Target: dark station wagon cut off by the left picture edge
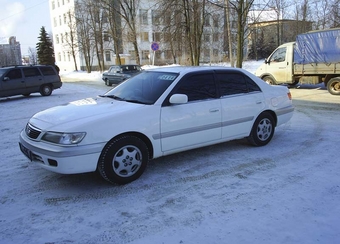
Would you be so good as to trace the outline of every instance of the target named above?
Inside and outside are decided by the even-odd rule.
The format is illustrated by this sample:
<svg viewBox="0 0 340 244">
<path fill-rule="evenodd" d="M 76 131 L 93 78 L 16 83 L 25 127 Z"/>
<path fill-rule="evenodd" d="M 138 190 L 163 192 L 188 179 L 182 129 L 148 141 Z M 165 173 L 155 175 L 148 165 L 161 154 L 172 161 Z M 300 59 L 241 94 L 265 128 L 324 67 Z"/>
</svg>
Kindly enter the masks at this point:
<svg viewBox="0 0 340 244">
<path fill-rule="evenodd" d="M 0 97 L 29 96 L 35 92 L 49 96 L 61 86 L 60 76 L 51 65 L 0 68 Z"/>
</svg>

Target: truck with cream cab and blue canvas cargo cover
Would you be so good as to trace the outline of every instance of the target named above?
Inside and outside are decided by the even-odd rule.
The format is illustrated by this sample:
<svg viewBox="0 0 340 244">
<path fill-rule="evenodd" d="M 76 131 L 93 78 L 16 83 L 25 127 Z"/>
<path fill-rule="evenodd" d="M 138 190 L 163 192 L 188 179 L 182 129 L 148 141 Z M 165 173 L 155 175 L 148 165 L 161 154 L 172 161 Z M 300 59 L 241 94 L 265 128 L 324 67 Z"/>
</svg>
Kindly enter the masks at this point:
<svg viewBox="0 0 340 244">
<path fill-rule="evenodd" d="M 276 48 L 255 74 L 272 85 L 323 82 L 340 95 L 340 28 L 298 35 Z"/>
</svg>

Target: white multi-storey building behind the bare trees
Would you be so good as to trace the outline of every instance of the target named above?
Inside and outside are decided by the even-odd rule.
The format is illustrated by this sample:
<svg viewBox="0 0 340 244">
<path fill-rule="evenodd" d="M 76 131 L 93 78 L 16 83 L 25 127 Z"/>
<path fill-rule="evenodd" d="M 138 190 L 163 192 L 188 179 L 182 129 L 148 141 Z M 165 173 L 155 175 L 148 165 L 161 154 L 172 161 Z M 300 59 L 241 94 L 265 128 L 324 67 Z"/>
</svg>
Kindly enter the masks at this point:
<svg viewBox="0 0 340 244">
<path fill-rule="evenodd" d="M 77 15 L 81 11 L 79 6 L 76 6 L 75 0 L 49 0 L 50 1 L 50 16 L 52 23 L 53 44 L 56 57 L 56 63 L 61 71 L 85 70 L 86 55 L 81 51 L 79 46 L 73 45 L 76 50 L 72 52 L 71 45 L 68 41 L 70 38 L 70 18 Z M 95 2 L 95 1 L 94 1 Z M 140 8 L 136 11 L 137 16 L 137 42 L 138 55 L 136 55 L 132 42 L 126 38 L 129 35 L 127 23 L 121 21 L 121 36 L 119 56 L 123 64 L 136 64 L 136 57 L 139 56 L 142 65 L 147 64 L 189 64 L 187 50 L 185 50 L 185 42 L 182 39 L 182 50 L 174 53 L 169 38 L 171 35 L 164 33 L 165 19 L 169 16 L 160 16 L 155 4 L 155 1 L 141 0 Z M 218 62 L 224 58 L 224 14 L 222 8 L 210 6 L 209 14 L 204 23 L 203 45 L 201 51 L 202 62 Z M 71 13 L 71 14 L 70 14 Z M 79 14 L 79 13 L 78 13 Z M 114 43 L 110 37 L 108 24 L 105 21 L 102 27 L 105 68 L 114 65 L 117 62 L 117 57 L 114 52 Z M 75 21 L 73 20 L 73 23 Z M 78 24 L 77 24 L 78 25 Z M 79 26 L 76 29 L 80 28 Z M 78 29 L 79 30 L 79 29 Z M 81 41 L 81 37 L 75 35 L 76 42 Z M 156 48 L 155 48 L 156 47 Z M 94 54 L 94 49 L 91 50 L 91 67 L 96 70 L 99 59 Z M 74 55 L 72 55 L 74 54 Z M 90 55 L 88 53 L 87 55 Z M 75 58 L 73 57 L 75 56 Z M 88 60 L 87 60 L 88 61 Z M 76 64 L 76 65 L 75 65 Z"/>
</svg>

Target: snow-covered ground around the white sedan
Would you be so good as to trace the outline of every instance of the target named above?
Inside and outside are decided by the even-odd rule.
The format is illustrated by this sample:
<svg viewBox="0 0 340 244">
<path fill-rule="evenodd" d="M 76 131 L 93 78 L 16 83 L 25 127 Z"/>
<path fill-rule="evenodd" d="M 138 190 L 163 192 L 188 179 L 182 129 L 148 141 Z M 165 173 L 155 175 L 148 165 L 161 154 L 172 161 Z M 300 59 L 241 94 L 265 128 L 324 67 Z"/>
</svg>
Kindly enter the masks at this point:
<svg viewBox="0 0 340 244">
<path fill-rule="evenodd" d="M 340 97 L 324 87 L 291 89 L 295 114 L 265 147 L 171 155 L 114 186 L 43 170 L 19 151 L 33 114 L 108 90 L 98 73 L 62 77 L 49 97 L 0 99 L 0 243 L 340 243 Z"/>
</svg>

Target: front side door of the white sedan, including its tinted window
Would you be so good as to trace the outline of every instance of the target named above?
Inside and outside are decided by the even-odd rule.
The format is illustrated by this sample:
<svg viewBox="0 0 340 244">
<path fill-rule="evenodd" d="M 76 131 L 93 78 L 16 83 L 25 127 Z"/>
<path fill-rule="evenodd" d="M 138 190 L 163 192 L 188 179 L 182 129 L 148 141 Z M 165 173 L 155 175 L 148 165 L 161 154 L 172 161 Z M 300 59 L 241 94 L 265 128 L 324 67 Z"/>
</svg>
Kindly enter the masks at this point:
<svg viewBox="0 0 340 244">
<path fill-rule="evenodd" d="M 221 138 L 221 103 L 213 72 L 183 77 L 171 94 L 186 94 L 188 103 L 161 108 L 162 150 L 178 151 Z"/>
</svg>

